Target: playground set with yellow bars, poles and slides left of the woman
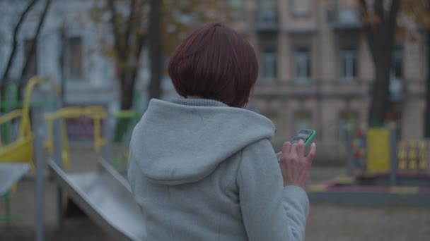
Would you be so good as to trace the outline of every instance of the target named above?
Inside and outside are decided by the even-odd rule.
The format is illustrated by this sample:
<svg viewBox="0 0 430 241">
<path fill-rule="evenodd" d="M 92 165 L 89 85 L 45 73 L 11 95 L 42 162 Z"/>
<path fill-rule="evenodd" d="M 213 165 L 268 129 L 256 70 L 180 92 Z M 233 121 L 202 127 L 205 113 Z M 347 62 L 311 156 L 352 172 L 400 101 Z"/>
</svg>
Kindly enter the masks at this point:
<svg viewBox="0 0 430 241">
<path fill-rule="evenodd" d="M 0 197 L 6 199 L 7 214 L 4 220 L 10 223 L 13 218 L 16 218 L 11 216 L 9 211 L 9 190 L 27 173 L 34 161 L 36 184 L 35 238 L 37 241 L 45 240 L 44 185 L 46 163 L 43 153 L 45 147 L 49 154 L 54 155 L 52 159 L 54 161 L 50 161 L 49 167 L 54 180 L 59 184 L 57 204 L 60 226 L 62 226 L 64 220 L 62 216 L 62 191 L 64 189 L 69 197 L 95 223 L 104 228 L 107 233 L 110 233 L 115 240 L 142 240 L 145 237 L 146 230 L 144 230 L 141 210 L 134 202 L 127 181 L 110 166 L 112 164 L 112 161 L 110 161 L 112 148 L 110 148 L 110 138 L 107 137 L 107 134 L 111 130 L 108 130 L 108 115 L 105 109 L 101 106 L 59 109 L 59 106 L 57 106 L 58 110 L 56 112 L 42 115 L 44 112 L 43 107 L 46 103 L 34 104 L 34 102 L 30 102 L 30 99 L 35 85 L 45 82 L 50 82 L 50 80 L 38 77 L 31 78 L 25 87 L 25 100 L 22 103 L 9 101 L 10 103 L 6 107 L 5 103 L 1 103 L 6 109 L 23 107 L 0 116 Z M 54 86 L 54 89 L 58 92 L 56 86 Z M 30 107 L 32 108 L 31 120 Z M 64 118 L 79 118 L 81 116 L 90 118 L 93 121 L 94 151 L 98 154 L 104 154 L 105 159 L 108 161 L 100 157 L 98 168 L 95 171 L 66 173 L 63 166 L 69 166 L 71 158 Z M 112 116 L 115 116 L 115 118 L 134 119 L 135 114 L 123 111 Z M 19 118 L 21 120 L 15 121 Z M 47 131 L 44 130 L 42 119 L 47 122 Z M 13 138 L 10 138 L 11 133 L 9 131 L 11 130 L 9 126 L 11 121 L 19 123 L 20 126 L 16 140 L 13 141 L 11 141 Z M 32 122 L 31 124 L 30 121 Z M 32 130 L 32 126 L 34 130 Z M 47 134 L 47 140 L 44 140 L 45 134 Z M 128 150 L 128 147 L 124 144 L 124 150 L 126 148 Z M 125 154 L 124 158 L 127 158 Z"/>
</svg>

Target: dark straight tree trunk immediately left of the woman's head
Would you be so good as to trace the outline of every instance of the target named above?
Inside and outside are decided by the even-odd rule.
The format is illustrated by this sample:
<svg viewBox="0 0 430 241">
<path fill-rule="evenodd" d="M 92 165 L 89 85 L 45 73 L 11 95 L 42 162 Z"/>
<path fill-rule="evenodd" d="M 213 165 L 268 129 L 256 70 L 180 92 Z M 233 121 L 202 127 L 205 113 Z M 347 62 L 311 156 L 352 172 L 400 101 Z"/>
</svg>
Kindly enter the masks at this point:
<svg viewBox="0 0 430 241">
<path fill-rule="evenodd" d="M 162 51 L 161 51 L 161 0 L 151 0 L 149 13 L 149 62 L 151 81 L 149 100 L 161 97 Z"/>
</svg>

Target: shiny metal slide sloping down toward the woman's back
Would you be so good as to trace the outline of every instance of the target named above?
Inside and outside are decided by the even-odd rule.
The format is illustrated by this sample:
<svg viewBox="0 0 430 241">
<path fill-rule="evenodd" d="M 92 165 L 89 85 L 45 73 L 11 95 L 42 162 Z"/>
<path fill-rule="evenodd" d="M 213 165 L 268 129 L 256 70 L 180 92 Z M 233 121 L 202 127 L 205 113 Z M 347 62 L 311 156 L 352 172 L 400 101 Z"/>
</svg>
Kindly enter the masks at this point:
<svg viewBox="0 0 430 241">
<path fill-rule="evenodd" d="M 54 180 L 113 240 L 144 240 L 144 218 L 129 184 L 105 160 L 87 173 L 65 173 L 54 161 L 49 166 Z"/>
</svg>

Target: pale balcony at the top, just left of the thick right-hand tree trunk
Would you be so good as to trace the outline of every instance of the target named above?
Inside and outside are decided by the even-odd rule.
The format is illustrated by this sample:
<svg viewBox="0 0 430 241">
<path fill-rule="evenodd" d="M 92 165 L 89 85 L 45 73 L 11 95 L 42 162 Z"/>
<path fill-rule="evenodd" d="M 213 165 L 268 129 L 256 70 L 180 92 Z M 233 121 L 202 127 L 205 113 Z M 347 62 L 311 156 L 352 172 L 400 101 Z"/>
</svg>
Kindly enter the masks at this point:
<svg viewBox="0 0 430 241">
<path fill-rule="evenodd" d="M 356 30 L 363 26 L 358 8 L 341 6 L 340 1 L 327 9 L 327 22 L 335 30 Z"/>
</svg>

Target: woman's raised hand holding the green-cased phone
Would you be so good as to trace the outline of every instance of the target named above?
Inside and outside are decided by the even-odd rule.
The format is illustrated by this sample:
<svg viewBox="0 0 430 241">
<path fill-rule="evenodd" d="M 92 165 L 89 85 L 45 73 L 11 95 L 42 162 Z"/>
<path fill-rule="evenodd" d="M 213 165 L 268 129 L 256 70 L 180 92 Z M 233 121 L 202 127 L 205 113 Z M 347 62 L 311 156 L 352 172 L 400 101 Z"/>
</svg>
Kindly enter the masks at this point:
<svg viewBox="0 0 430 241">
<path fill-rule="evenodd" d="M 308 156 L 305 156 L 303 140 L 300 140 L 298 144 L 284 143 L 282 152 L 277 153 L 277 156 L 280 156 L 279 168 L 284 179 L 284 186 L 295 185 L 305 188 L 316 149 L 315 143 L 312 143 Z"/>
</svg>

